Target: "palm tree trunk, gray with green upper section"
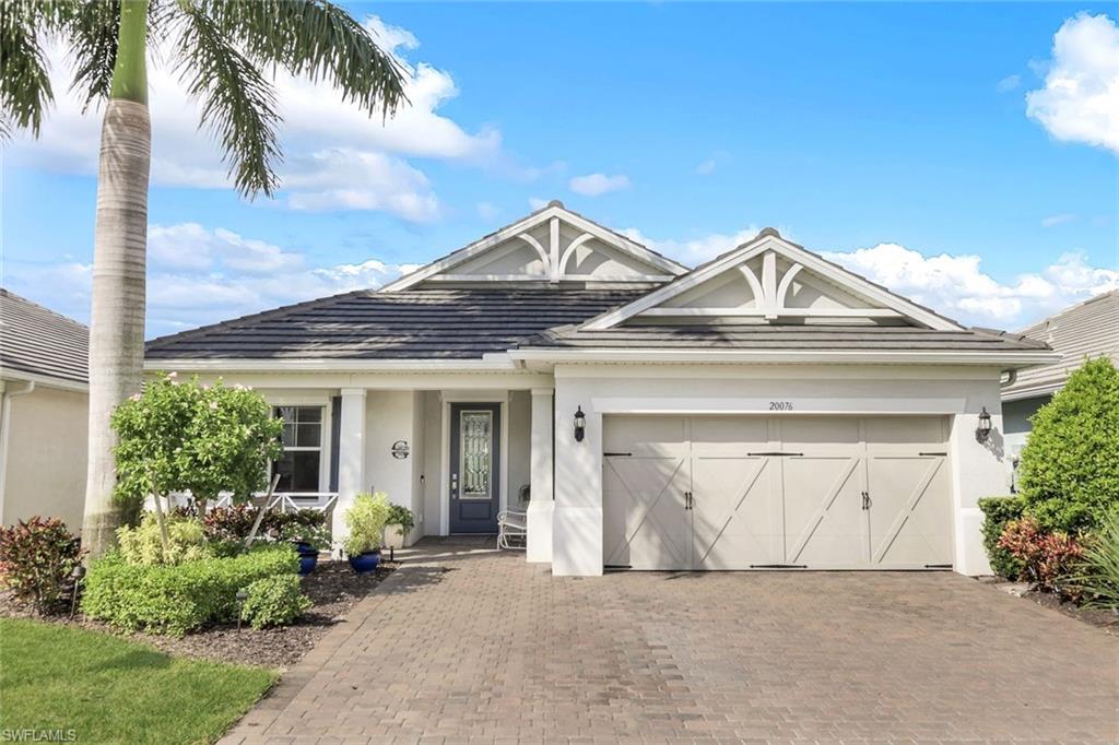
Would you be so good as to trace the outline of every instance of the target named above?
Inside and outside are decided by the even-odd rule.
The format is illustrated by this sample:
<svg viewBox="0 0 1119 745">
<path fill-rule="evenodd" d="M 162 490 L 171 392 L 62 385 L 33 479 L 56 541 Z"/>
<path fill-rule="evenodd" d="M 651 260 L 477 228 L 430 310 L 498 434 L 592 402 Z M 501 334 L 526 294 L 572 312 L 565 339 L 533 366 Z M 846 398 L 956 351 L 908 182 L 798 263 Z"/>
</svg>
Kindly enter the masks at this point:
<svg viewBox="0 0 1119 745">
<path fill-rule="evenodd" d="M 121 7 L 113 89 L 101 131 L 97 227 L 90 313 L 90 455 L 82 540 L 95 558 L 113 546 L 116 437 L 110 416 L 143 375 L 151 122 L 145 70 L 147 0 Z"/>
</svg>

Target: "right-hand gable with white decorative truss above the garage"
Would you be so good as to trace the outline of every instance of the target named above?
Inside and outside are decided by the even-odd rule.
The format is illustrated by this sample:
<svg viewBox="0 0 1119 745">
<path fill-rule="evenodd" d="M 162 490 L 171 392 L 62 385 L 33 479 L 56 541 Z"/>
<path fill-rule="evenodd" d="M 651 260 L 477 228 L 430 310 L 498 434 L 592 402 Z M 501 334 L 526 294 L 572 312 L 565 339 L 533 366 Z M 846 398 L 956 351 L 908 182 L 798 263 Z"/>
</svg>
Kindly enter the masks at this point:
<svg viewBox="0 0 1119 745">
<path fill-rule="evenodd" d="M 866 323 L 959 329 L 767 228 L 753 241 L 582 328 L 620 324 Z"/>
</svg>

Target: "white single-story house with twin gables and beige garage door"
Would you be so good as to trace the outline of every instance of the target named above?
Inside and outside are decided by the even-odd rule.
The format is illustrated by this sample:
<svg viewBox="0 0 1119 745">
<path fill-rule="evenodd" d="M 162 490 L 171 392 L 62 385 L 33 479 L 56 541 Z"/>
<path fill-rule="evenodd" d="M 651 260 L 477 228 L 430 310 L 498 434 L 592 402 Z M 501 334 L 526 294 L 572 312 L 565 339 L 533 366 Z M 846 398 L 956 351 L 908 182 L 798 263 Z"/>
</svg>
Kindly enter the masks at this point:
<svg viewBox="0 0 1119 745">
<path fill-rule="evenodd" d="M 156 339 L 149 370 L 251 385 L 281 490 L 385 490 L 416 535 L 642 569 L 988 572 L 999 383 L 1054 359 L 767 228 L 688 268 L 558 201 L 378 290 Z M 989 432 L 988 432 L 989 428 Z"/>
</svg>

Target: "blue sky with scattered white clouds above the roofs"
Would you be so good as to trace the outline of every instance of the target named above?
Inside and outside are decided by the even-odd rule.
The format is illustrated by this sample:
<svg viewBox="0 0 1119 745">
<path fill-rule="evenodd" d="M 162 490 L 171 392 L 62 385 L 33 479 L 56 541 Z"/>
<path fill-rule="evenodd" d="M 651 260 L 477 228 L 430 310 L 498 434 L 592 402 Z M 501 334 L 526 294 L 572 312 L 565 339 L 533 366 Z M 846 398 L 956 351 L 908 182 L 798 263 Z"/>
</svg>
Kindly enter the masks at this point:
<svg viewBox="0 0 1119 745">
<path fill-rule="evenodd" d="M 278 81 L 274 201 L 225 186 L 153 70 L 150 337 L 375 286 L 553 198 L 689 264 L 772 225 L 982 326 L 1119 286 L 1115 6 L 351 8 L 413 106 L 382 126 Z M 2 282 L 83 321 L 98 129 L 63 98 L 3 153 Z"/>
</svg>

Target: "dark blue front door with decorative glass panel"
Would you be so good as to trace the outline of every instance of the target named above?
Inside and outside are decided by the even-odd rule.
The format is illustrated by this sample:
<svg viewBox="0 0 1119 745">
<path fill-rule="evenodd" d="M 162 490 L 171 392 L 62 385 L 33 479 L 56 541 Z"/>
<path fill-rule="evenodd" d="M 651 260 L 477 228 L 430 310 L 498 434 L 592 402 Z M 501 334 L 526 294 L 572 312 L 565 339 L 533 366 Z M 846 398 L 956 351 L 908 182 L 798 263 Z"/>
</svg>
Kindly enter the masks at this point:
<svg viewBox="0 0 1119 745">
<path fill-rule="evenodd" d="M 496 534 L 501 404 L 451 404 L 451 532 Z"/>
</svg>

